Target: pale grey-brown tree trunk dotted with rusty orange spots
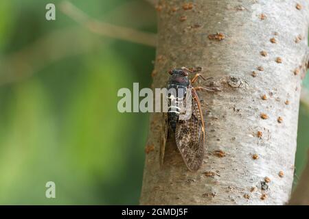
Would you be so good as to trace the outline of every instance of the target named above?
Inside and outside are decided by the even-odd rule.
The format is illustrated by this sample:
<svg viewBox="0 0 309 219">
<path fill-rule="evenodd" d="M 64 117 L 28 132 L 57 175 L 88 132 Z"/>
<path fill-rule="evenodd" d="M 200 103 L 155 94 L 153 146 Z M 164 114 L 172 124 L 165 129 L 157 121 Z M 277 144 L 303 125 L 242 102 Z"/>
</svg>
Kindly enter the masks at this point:
<svg viewBox="0 0 309 219">
<path fill-rule="evenodd" d="M 186 66 L 202 68 L 200 86 L 221 91 L 199 92 L 206 153 L 196 172 L 172 139 L 160 166 L 161 114 L 152 114 L 141 205 L 287 203 L 308 63 L 308 1 L 183 3 L 157 5 L 153 87 L 165 87 L 168 70 Z"/>
</svg>

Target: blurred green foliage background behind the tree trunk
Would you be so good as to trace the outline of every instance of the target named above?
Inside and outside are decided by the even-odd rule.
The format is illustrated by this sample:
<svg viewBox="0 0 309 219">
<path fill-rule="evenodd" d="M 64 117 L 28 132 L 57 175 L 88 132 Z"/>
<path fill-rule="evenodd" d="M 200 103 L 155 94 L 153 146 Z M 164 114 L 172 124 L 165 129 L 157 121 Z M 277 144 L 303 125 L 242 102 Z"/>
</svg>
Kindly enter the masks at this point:
<svg viewBox="0 0 309 219">
<path fill-rule="evenodd" d="M 45 19 L 51 2 L 56 21 Z M 89 31 L 61 2 L 0 1 L 0 204 L 138 204 L 149 115 L 117 112 L 117 90 L 150 87 L 155 48 Z M 142 0 L 71 3 L 98 21 L 156 32 Z M 308 130 L 301 105 L 297 175 Z M 45 198 L 47 181 L 56 198 Z"/>
</svg>

